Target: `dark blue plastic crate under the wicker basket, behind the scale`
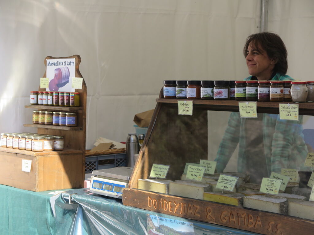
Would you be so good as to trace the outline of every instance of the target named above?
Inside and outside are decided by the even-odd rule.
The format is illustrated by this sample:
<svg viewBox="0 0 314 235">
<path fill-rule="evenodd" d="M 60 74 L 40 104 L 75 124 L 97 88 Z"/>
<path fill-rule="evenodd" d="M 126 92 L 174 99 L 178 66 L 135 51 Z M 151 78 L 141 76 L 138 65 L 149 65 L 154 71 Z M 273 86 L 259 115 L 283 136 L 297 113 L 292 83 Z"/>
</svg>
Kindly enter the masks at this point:
<svg viewBox="0 0 314 235">
<path fill-rule="evenodd" d="M 85 157 L 85 174 L 93 170 L 127 166 L 127 154 L 107 154 Z"/>
</svg>

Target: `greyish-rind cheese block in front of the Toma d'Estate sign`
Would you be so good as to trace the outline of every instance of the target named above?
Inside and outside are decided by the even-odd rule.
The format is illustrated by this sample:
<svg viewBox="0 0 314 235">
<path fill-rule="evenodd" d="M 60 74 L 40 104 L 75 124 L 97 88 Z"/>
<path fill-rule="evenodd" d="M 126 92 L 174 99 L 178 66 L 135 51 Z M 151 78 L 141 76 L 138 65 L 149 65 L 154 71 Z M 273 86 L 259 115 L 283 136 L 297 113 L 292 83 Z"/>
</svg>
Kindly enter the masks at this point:
<svg viewBox="0 0 314 235">
<path fill-rule="evenodd" d="M 169 194 L 202 199 L 204 192 L 208 192 L 210 186 L 204 183 L 174 181 L 169 184 Z"/>
</svg>

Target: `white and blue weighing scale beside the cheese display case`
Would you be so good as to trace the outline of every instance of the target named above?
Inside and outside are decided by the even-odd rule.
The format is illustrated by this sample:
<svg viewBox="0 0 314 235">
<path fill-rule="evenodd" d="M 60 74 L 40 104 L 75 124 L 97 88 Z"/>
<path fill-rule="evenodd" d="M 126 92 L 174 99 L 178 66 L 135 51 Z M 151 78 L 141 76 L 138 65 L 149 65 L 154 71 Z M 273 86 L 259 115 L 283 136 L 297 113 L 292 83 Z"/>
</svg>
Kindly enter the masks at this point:
<svg viewBox="0 0 314 235">
<path fill-rule="evenodd" d="M 93 170 L 95 176 L 90 179 L 89 191 L 122 199 L 122 189 L 127 188 L 132 171 L 132 167 L 126 166 Z"/>
</svg>

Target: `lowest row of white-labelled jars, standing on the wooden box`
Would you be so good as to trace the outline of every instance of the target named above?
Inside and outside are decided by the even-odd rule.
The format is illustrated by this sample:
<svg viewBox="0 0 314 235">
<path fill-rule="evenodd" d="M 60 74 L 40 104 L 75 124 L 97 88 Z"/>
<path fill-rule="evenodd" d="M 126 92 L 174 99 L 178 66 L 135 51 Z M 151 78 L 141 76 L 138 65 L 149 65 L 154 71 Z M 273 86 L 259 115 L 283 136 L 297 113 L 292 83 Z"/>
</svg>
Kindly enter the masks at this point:
<svg viewBox="0 0 314 235">
<path fill-rule="evenodd" d="M 63 136 L 34 133 L 1 133 L 1 147 L 34 152 L 63 150 Z"/>
</svg>

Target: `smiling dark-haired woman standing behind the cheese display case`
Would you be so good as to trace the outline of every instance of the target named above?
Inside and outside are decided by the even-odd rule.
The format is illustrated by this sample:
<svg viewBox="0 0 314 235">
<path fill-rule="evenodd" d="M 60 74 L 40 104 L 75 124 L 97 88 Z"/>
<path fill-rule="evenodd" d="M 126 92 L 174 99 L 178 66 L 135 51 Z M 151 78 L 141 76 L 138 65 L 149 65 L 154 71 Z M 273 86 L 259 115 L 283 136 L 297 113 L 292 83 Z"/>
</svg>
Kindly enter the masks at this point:
<svg viewBox="0 0 314 235">
<path fill-rule="evenodd" d="M 293 80 L 286 75 L 287 50 L 277 34 L 257 33 L 246 39 L 246 65 L 251 76 L 245 80 Z M 237 171 L 260 183 L 281 168 L 302 167 L 307 147 L 299 121 L 280 120 L 278 114 L 258 113 L 257 118 L 240 118 L 232 112 L 217 152 L 216 169 L 222 172 L 239 143 Z M 236 169 L 234 169 L 236 171 Z"/>
</svg>

